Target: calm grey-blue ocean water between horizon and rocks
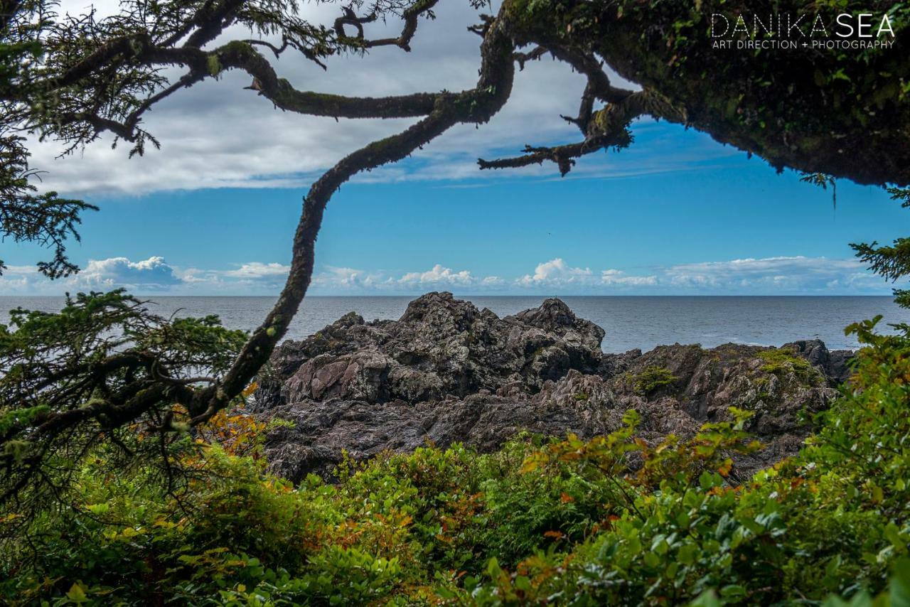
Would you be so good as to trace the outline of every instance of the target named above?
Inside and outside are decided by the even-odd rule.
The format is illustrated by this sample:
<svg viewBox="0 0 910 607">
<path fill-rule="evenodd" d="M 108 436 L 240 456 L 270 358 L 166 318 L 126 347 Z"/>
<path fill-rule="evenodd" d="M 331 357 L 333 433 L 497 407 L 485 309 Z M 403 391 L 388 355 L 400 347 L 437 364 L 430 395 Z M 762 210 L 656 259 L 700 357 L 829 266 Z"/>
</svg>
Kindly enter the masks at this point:
<svg viewBox="0 0 910 607">
<path fill-rule="evenodd" d="M 544 299 L 526 296 L 464 296 L 478 308 L 502 317 L 535 308 Z M 265 318 L 271 297 L 145 296 L 149 309 L 162 316 L 217 314 L 232 329 L 254 329 Z M 350 311 L 364 319 L 398 319 L 412 297 L 308 297 L 288 329 L 288 339 L 301 339 Z M 780 346 L 795 339 L 822 339 L 829 349 L 854 349 L 844 327 L 882 314 L 887 322 L 910 323 L 910 310 L 890 297 L 563 297 L 575 314 L 606 331 L 603 349 L 624 352 L 660 344 L 698 343 L 712 348 L 723 343 Z M 7 310 L 23 307 L 56 311 L 56 297 L 0 296 L 0 323 Z"/>
</svg>

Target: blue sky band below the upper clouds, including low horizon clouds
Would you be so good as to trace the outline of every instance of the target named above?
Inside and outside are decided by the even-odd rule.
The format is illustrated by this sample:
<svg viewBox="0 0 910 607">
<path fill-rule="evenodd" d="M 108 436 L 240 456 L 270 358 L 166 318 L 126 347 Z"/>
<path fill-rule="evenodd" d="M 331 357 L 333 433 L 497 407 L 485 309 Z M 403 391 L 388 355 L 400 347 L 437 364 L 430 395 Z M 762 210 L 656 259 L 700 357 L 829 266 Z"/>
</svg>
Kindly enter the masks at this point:
<svg viewBox="0 0 910 607">
<path fill-rule="evenodd" d="M 889 292 L 847 245 L 905 234 L 906 211 L 880 188 L 841 182 L 835 209 L 830 191 L 801 183 L 793 172 L 779 175 L 760 158 L 695 131 L 647 124 L 636 136 L 629 150 L 585 158 L 577 176 L 349 184 L 326 215 L 313 292 Z M 682 149 L 700 152 L 660 167 Z M 101 211 L 86 216 L 83 243 L 70 249 L 88 274 L 59 288 L 276 292 L 302 191 L 233 187 L 89 197 Z M 10 243 L 3 251 L 14 268 L 27 268 L 43 253 Z M 15 278 L 15 272 L 7 276 Z M 54 287 L 35 277 L 28 288 L 9 292 Z"/>
</svg>

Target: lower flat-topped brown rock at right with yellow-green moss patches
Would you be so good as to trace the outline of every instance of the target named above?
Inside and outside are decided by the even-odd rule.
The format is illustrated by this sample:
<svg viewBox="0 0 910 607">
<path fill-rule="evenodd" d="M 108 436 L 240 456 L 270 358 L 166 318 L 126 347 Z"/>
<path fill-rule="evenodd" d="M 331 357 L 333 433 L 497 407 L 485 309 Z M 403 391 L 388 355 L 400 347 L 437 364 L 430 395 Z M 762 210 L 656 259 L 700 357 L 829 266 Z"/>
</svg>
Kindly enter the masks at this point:
<svg viewBox="0 0 910 607">
<path fill-rule="evenodd" d="M 786 344 L 780 349 L 675 344 L 625 360 L 622 372 L 607 383 L 618 396 L 638 394 L 685 415 L 664 432 L 685 435 L 704 421 L 731 420 L 730 407 L 753 411 L 746 430 L 765 447 L 736 461 L 743 475 L 799 450 L 811 430 L 806 420 L 837 396 L 832 386 L 847 378 L 845 361 L 851 356 L 829 352 L 818 340 L 809 348 Z"/>
</svg>

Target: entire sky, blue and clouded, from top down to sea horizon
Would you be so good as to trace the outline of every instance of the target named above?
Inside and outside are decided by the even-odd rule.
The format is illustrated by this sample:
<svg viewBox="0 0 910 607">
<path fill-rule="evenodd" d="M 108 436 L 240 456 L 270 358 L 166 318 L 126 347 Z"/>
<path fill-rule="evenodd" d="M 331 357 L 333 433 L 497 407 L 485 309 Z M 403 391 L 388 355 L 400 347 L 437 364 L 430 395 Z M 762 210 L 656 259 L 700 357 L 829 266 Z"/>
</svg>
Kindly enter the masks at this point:
<svg viewBox="0 0 910 607">
<path fill-rule="evenodd" d="M 76 13 L 84 0 L 66 0 Z M 96 3 L 102 13 L 111 0 Z M 313 20 L 337 5 L 304 5 Z M 327 71 L 278 62 L 301 89 L 381 96 L 473 85 L 479 38 L 468 3 L 440 3 L 412 52 L 337 57 Z M 397 24 L 378 24 L 372 35 Z M 389 30 L 390 31 L 390 30 Z M 388 33 L 388 32 L 386 32 Z M 248 37 L 242 32 L 233 35 Z M 216 41 L 218 44 L 221 41 Z M 623 83 L 614 76 L 618 84 Z M 227 73 L 178 92 L 148 115 L 160 141 L 127 157 L 103 137 L 58 158 L 35 143 L 40 187 L 100 207 L 87 213 L 70 278 L 41 277 L 47 250 L 6 240 L 0 295 L 126 287 L 139 294 L 269 295 L 284 284 L 302 197 L 341 157 L 412 120 L 345 120 L 276 110 Z M 544 59 L 518 75 L 507 106 L 457 126 L 412 157 L 361 175 L 329 203 L 310 289 L 322 295 L 883 295 L 892 285 L 850 242 L 905 236 L 906 210 L 880 188 L 830 190 L 778 174 L 761 158 L 682 126 L 633 124 L 632 147 L 581 158 L 567 177 L 544 165 L 480 171 L 478 157 L 577 140 L 560 118 L 583 79 Z"/>
</svg>

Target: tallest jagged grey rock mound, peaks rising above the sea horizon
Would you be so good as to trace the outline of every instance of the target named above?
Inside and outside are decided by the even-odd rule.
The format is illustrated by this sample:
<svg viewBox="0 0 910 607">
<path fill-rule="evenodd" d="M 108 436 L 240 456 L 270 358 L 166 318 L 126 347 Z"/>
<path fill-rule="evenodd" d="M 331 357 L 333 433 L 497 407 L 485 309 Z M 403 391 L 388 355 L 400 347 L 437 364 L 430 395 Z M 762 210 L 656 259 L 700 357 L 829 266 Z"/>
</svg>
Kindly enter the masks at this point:
<svg viewBox="0 0 910 607">
<path fill-rule="evenodd" d="M 410 302 L 399 320 L 350 313 L 300 342 L 287 341 L 261 374 L 260 410 L 301 400 L 383 403 L 465 397 L 481 389 L 531 394 L 569 369 L 593 372 L 603 329 L 559 299 L 498 318 L 451 293 Z"/>
</svg>

